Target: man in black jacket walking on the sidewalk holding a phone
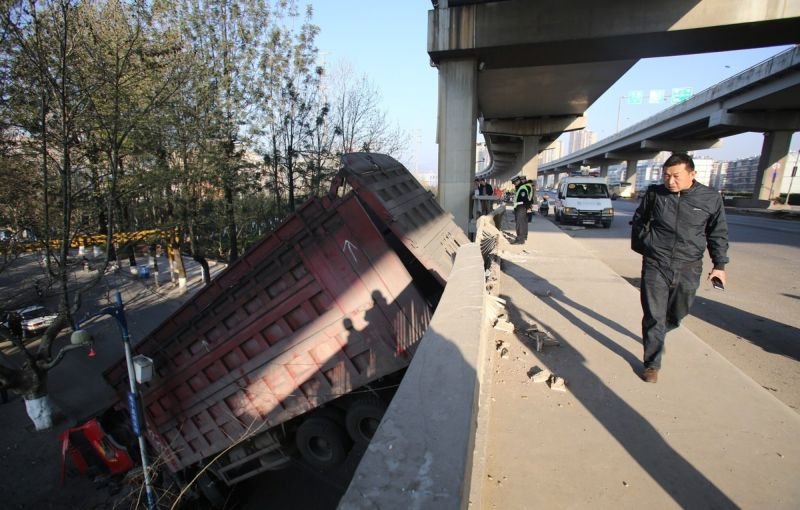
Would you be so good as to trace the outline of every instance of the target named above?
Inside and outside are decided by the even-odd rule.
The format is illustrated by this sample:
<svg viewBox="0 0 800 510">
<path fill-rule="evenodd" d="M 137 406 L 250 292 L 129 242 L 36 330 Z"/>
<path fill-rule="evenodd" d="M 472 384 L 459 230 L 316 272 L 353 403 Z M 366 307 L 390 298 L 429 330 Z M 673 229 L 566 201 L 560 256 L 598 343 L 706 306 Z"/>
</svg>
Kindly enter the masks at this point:
<svg viewBox="0 0 800 510">
<path fill-rule="evenodd" d="M 634 227 L 650 221 L 642 261 L 642 343 L 646 382 L 655 383 L 661 369 L 666 334 L 689 313 L 708 249 L 713 269 L 708 279 L 726 282 L 728 224 L 722 198 L 694 180 L 694 161 L 673 154 L 664 163 L 664 184 L 648 191 L 636 209 Z M 650 199 L 654 203 L 648 204 Z M 646 211 L 650 218 L 645 218 Z"/>
</svg>

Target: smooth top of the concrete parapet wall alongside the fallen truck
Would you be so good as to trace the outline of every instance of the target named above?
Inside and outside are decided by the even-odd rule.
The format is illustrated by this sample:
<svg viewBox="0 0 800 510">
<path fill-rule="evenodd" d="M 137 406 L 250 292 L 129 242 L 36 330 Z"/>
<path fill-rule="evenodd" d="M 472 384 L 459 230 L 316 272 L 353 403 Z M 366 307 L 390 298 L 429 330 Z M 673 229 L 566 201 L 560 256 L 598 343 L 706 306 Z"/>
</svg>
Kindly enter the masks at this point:
<svg viewBox="0 0 800 510">
<path fill-rule="evenodd" d="M 340 509 L 466 508 L 485 358 L 483 300 L 480 250 L 464 245 Z"/>
</svg>

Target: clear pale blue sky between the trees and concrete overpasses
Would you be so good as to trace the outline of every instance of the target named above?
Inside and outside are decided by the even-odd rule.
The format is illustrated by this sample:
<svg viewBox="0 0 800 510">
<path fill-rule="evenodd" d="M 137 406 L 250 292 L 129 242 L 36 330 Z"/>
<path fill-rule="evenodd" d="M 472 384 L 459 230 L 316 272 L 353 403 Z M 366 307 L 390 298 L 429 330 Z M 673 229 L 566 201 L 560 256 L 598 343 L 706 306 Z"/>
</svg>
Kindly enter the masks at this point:
<svg viewBox="0 0 800 510">
<path fill-rule="evenodd" d="M 349 62 L 380 90 L 383 109 L 392 123 L 409 134 L 411 147 L 403 163 L 411 170 L 437 168 L 436 105 L 438 73 L 427 54 L 430 0 L 316 0 L 314 22 L 320 27 L 318 47 L 326 66 Z M 691 87 L 698 93 L 744 71 L 789 46 L 652 58 L 639 61 L 586 112 L 588 129 L 603 139 L 669 107 L 647 104 L 650 90 Z M 643 104 L 620 98 L 644 92 Z M 479 139 L 482 137 L 479 136 Z M 763 135 L 748 133 L 724 140 L 723 147 L 699 152 L 716 159 L 758 155 Z M 792 149 L 800 146 L 800 135 Z"/>
</svg>

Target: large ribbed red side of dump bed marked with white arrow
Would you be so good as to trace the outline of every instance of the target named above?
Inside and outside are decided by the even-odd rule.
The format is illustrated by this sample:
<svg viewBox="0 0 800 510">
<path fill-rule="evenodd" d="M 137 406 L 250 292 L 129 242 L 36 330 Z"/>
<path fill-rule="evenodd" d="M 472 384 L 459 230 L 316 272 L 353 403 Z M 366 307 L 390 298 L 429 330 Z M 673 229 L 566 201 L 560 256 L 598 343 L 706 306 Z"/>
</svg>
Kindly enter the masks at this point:
<svg viewBox="0 0 800 510">
<path fill-rule="evenodd" d="M 186 467 L 404 368 L 430 316 L 355 195 L 306 203 L 137 346 L 149 434 Z"/>
</svg>

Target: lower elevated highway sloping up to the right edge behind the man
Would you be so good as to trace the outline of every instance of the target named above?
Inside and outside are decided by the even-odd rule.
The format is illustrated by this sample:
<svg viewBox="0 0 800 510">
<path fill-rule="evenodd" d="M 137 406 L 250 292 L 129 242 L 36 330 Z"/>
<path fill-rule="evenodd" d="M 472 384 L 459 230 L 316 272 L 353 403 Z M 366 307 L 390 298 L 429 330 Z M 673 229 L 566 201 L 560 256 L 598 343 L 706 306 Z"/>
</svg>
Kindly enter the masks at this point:
<svg viewBox="0 0 800 510">
<path fill-rule="evenodd" d="M 626 162 L 633 182 L 636 163 L 660 151 L 717 147 L 721 139 L 748 132 L 764 133 L 753 196 L 769 199 L 771 172 L 778 163 L 780 182 L 792 134 L 800 130 L 800 46 L 779 53 L 689 100 L 559 160 L 542 165 L 539 175 L 567 173 L 581 166 Z"/>
</svg>

